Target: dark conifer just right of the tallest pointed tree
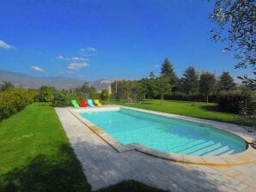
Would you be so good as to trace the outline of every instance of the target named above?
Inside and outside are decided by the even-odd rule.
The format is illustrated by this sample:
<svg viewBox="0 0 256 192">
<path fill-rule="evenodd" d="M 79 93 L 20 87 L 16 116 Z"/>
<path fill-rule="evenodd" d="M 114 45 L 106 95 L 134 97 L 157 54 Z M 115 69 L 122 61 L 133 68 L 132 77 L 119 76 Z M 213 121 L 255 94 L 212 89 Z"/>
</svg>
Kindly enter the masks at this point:
<svg viewBox="0 0 256 192">
<path fill-rule="evenodd" d="M 189 66 L 181 78 L 183 91 L 187 95 L 192 95 L 198 92 L 198 73 L 196 70 Z"/>
</svg>

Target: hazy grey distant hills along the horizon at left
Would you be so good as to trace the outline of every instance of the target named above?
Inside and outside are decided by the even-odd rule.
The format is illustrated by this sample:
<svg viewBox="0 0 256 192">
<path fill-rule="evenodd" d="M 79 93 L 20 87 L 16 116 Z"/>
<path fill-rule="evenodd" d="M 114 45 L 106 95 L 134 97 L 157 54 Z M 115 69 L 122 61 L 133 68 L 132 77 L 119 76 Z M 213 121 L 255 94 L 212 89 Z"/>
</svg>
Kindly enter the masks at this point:
<svg viewBox="0 0 256 192">
<path fill-rule="evenodd" d="M 46 85 L 56 87 L 57 89 L 80 87 L 85 82 L 65 77 L 35 77 L 31 75 L 0 70 L 0 83 L 3 83 L 4 81 L 12 82 L 15 86 L 39 88 L 42 85 Z M 107 89 L 110 82 L 111 81 L 109 80 L 101 79 L 98 81 L 91 81 L 89 82 L 89 85 L 96 87 L 97 89 Z"/>
</svg>

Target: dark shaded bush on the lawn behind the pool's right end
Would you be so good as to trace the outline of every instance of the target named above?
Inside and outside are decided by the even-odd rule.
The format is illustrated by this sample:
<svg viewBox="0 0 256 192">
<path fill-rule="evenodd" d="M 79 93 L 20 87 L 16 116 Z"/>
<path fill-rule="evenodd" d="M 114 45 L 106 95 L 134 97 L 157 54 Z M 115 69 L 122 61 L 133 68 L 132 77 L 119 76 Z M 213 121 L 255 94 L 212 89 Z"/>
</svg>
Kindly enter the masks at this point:
<svg viewBox="0 0 256 192">
<path fill-rule="evenodd" d="M 243 108 L 252 107 L 252 100 L 250 94 L 222 93 L 218 96 L 217 103 L 222 111 L 240 113 Z"/>
</svg>

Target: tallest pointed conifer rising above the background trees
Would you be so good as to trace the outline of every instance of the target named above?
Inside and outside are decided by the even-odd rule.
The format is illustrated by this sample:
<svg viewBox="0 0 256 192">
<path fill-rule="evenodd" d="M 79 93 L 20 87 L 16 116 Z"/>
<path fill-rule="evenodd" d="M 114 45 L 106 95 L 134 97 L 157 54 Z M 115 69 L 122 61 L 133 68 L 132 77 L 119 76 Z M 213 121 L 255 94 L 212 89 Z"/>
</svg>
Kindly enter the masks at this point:
<svg viewBox="0 0 256 192">
<path fill-rule="evenodd" d="M 173 88 L 176 87 L 176 83 L 177 83 L 179 78 L 175 74 L 174 66 L 168 60 L 168 58 L 165 58 L 163 63 L 162 63 L 161 75 L 168 78 L 169 83 L 172 85 Z"/>
</svg>

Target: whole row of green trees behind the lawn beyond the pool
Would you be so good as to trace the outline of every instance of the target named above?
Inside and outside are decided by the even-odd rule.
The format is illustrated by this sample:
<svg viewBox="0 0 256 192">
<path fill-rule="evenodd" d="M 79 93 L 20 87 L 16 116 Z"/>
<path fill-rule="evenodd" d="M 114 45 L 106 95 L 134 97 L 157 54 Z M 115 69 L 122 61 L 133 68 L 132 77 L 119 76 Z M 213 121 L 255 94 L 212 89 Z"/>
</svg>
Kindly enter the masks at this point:
<svg viewBox="0 0 256 192">
<path fill-rule="evenodd" d="M 229 72 L 222 72 L 220 77 L 203 71 L 198 72 L 193 66 L 188 66 L 179 78 L 175 74 L 173 64 L 165 58 L 160 75 L 153 72 L 138 81 L 114 81 L 112 92 L 114 99 L 135 98 L 141 99 L 175 99 L 194 98 L 209 101 L 209 96 L 227 93 L 238 89 L 252 90 L 249 86 L 236 86 Z"/>
</svg>

